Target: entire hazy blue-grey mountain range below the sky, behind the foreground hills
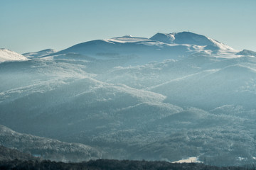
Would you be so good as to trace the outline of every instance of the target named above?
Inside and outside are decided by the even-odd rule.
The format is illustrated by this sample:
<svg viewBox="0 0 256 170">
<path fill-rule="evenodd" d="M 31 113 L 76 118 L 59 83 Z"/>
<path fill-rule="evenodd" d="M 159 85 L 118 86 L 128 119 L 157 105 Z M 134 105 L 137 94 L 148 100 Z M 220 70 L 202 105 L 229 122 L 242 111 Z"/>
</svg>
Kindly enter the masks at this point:
<svg viewBox="0 0 256 170">
<path fill-rule="evenodd" d="M 103 158 L 255 162 L 255 52 L 182 32 L 15 56 L 0 53 L 0 124 L 16 132 Z"/>
</svg>

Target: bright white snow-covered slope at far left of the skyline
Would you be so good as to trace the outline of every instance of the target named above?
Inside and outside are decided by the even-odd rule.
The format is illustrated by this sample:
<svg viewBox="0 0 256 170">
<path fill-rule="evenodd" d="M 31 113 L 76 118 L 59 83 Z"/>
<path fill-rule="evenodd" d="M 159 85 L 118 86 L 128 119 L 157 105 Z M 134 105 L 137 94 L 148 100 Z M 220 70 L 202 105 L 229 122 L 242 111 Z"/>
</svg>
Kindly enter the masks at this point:
<svg viewBox="0 0 256 170">
<path fill-rule="evenodd" d="M 17 52 L 13 52 L 5 48 L 0 49 L 0 62 L 22 61 L 22 60 L 28 60 L 28 59 L 23 55 L 18 54 Z"/>
</svg>

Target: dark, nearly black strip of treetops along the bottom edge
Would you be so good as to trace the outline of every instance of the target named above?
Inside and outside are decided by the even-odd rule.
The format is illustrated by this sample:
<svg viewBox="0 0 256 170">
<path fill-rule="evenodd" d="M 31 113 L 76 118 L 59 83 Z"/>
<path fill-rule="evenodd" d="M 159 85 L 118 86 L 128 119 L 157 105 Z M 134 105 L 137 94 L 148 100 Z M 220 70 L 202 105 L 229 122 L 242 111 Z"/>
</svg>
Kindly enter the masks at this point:
<svg viewBox="0 0 256 170">
<path fill-rule="evenodd" d="M 207 166 L 204 164 L 171 164 L 169 162 L 146 162 L 146 161 L 117 161 L 99 159 L 96 161 L 82 162 L 82 163 L 63 163 L 63 162 L 50 162 L 50 161 L 20 161 L 14 160 L 11 162 L 0 162 L 0 169 L 86 169 L 86 170 L 156 170 L 156 169 L 174 169 L 174 170 L 249 170 L 249 168 L 242 167 L 218 167 Z M 250 169 L 254 169 L 250 166 Z"/>
</svg>

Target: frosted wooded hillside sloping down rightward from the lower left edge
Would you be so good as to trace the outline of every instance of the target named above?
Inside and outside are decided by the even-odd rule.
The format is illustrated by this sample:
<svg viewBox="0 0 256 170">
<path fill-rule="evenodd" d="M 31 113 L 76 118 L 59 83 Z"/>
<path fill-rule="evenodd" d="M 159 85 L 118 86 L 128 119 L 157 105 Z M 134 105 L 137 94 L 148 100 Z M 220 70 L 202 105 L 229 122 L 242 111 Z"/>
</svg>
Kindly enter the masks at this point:
<svg viewBox="0 0 256 170">
<path fill-rule="evenodd" d="M 0 145 L 55 161 L 79 162 L 100 158 L 100 152 L 95 148 L 77 143 L 60 142 L 45 137 L 21 134 L 3 125 L 0 125 Z M 4 150 L 1 155 L 5 158 L 32 159 L 29 154 L 18 154 L 18 151 L 14 149 L 6 149 L 4 147 L 1 147 L 1 149 Z M 15 155 L 18 156 L 16 157 Z"/>
</svg>

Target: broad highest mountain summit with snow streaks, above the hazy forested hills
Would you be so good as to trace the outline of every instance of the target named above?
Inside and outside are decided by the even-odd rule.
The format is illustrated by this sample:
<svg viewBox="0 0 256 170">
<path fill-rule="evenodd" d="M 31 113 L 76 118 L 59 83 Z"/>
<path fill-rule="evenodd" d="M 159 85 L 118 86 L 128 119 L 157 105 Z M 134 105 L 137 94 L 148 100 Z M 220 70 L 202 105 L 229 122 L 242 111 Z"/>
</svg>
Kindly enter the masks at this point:
<svg viewBox="0 0 256 170">
<path fill-rule="evenodd" d="M 92 40 L 73 45 L 60 52 L 48 56 L 75 54 L 94 57 L 100 60 L 111 58 L 133 58 L 129 64 L 145 64 L 147 62 L 188 57 L 195 53 L 214 57 L 238 57 L 238 51 L 217 40 L 191 32 L 156 33 L 151 38 L 123 37 L 106 40 Z"/>
</svg>

